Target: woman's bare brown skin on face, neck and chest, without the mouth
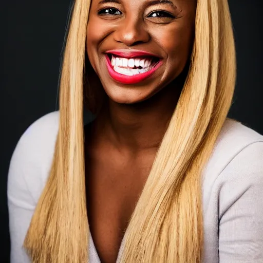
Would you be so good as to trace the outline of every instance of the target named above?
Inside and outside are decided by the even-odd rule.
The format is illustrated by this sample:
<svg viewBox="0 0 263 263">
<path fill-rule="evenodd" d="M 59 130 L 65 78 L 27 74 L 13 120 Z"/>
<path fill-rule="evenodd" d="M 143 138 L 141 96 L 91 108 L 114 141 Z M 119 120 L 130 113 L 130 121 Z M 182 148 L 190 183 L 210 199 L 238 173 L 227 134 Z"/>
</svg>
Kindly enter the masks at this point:
<svg viewBox="0 0 263 263">
<path fill-rule="evenodd" d="M 85 127 L 86 192 L 96 250 L 113 263 L 185 81 L 196 1 L 100 2 L 92 0 L 86 44 L 106 100 Z M 140 83 L 122 84 L 107 71 L 110 49 L 149 51 L 163 64 Z"/>
</svg>

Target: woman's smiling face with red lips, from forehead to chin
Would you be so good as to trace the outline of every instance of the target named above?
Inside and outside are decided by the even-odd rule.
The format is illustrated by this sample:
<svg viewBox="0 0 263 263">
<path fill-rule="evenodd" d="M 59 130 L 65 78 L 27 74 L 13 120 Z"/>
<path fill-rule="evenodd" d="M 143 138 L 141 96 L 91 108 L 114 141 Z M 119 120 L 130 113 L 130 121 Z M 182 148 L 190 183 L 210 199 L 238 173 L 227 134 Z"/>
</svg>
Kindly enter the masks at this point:
<svg viewBox="0 0 263 263">
<path fill-rule="evenodd" d="M 143 101 L 179 76 L 195 10 L 196 0 L 92 0 L 87 53 L 111 100 Z"/>
</svg>

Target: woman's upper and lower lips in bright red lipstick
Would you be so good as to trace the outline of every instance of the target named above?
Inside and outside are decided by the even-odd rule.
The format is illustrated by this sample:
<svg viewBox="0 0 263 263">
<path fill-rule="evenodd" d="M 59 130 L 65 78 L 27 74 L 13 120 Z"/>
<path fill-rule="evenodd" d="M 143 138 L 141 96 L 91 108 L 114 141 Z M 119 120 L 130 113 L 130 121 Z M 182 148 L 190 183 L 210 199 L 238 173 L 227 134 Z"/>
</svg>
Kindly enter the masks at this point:
<svg viewBox="0 0 263 263">
<path fill-rule="evenodd" d="M 110 53 L 110 54 L 114 54 L 117 57 L 120 58 L 142 58 L 142 57 L 156 57 L 155 55 L 146 52 L 146 51 L 122 51 L 122 50 L 109 50 L 106 53 Z M 114 70 L 114 67 L 111 65 L 111 61 L 108 57 L 108 55 L 105 56 L 106 57 L 106 65 L 107 65 L 107 69 L 109 72 L 109 75 L 112 79 L 114 79 L 115 81 L 118 81 L 120 83 L 123 84 L 136 84 L 139 83 L 143 80 L 145 80 L 146 78 L 152 76 L 152 74 L 162 65 L 161 60 L 158 61 L 157 64 L 154 65 L 154 67 L 152 69 L 150 69 L 147 72 L 144 73 L 138 73 L 135 74 L 134 76 L 127 76 L 125 74 L 121 74 L 118 73 Z"/>
</svg>

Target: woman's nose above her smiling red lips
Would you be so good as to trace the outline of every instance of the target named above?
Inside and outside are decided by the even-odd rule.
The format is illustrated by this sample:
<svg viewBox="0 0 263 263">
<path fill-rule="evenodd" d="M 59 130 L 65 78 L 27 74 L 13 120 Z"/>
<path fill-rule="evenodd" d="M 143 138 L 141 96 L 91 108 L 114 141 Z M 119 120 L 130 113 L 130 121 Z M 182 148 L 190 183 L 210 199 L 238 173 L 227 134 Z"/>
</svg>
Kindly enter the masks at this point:
<svg viewBox="0 0 263 263">
<path fill-rule="evenodd" d="M 115 41 L 126 46 L 135 46 L 146 43 L 151 39 L 142 20 L 125 17 L 115 30 Z"/>
</svg>

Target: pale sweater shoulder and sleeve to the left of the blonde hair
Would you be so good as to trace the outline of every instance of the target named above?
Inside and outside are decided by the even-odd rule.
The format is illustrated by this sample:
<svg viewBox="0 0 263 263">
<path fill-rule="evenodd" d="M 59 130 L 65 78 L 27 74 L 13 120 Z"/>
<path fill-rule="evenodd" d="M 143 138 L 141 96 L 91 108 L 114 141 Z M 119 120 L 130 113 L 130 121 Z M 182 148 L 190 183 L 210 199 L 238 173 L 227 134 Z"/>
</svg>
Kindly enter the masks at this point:
<svg viewBox="0 0 263 263">
<path fill-rule="evenodd" d="M 7 183 L 11 263 L 31 262 L 23 243 L 49 175 L 58 122 L 58 111 L 36 120 L 27 128 L 14 149 Z"/>
</svg>

